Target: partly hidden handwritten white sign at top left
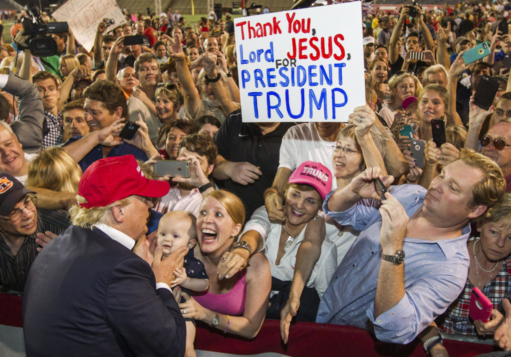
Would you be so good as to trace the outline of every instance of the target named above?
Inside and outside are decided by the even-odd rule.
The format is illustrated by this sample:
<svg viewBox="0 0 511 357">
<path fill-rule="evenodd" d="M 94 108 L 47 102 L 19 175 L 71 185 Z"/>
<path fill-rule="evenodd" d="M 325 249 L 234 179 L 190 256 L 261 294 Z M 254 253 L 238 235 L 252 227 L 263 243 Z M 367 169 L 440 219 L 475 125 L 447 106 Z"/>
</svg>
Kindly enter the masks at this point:
<svg viewBox="0 0 511 357">
<path fill-rule="evenodd" d="M 92 46 L 94 46 L 98 23 L 103 18 L 113 18 L 115 20 L 114 25 L 109 26 L 107 31 L 126 21 L 115 0 L 69 0 L 58 8 L 52 16 L 57 21 L 67 21 L 75 38 L 87 51 L 92 50 Z"/>
</svg>

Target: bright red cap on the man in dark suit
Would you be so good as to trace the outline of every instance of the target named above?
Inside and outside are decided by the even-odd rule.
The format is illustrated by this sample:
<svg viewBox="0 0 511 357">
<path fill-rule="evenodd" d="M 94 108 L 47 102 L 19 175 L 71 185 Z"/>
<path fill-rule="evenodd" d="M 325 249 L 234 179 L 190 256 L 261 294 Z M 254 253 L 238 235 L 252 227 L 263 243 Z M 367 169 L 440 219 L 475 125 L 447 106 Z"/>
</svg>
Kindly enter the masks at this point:
<svg viewBox="0 0 511 357">
<path fill-rule="evenodd" d="M 165 196 L 167 181 L 148 180 L 133 155 L 107 157 L 92 163 L 78 184 L 78 195 L 87 202 L 80 207 L 104 207 L 128 196 Z"/>
</svg>

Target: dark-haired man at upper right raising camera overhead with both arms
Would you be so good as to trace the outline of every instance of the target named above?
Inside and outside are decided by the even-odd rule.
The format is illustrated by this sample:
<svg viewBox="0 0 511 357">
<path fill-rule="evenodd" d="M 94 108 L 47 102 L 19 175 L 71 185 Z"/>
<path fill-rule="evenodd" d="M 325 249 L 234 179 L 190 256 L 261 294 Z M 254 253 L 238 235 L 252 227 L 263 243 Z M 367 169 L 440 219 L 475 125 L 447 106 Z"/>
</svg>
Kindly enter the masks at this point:
<svg viewBox="0 0 511 357">
<path fill-rule="evenodd" d="M 401 56 L 401 49 L 398 47 L 398 40 L 403 31 L 403 25 L 406 23 L 408 16 L 415 17 L 415 20 L 419 22 L 419 33 L 411 32 L 406 36 L 405 41 L 405 50 L 406 52 L 414 51 L 414 52 L 422 52 L 424 47 L 428 51 L 433 51 L 433 38 L 431 37 L 431 33 L 429 32 L 426 23 L 424 23 L 422 9 L 417 3 L 413 2 L 412 5 L 405 5 L 401 8 L 401 15 L 399 16 L 398 22 L 394 27 L 394 31 L 392 31 L 392 35 L 390 36 L 389 46 L 388 46 L 388 56 L 390 62 L 390 70 L 392 73 L 399 72 L 403 67 L 404 58 Z M 422 36 L 421 36 L 422 35 Z M 421 38 L 424 40 L 425 46 L 421 44 Z M 432 56 L 431 56 L 432 57 Z M 416 69 L 419 69 L 421 66 L 428 66 L 429 63 L 413 60 L 411 63 L 413 65 L 409 66 L 408 70 L 410 72 L 414 72 Z"/>
</svg>

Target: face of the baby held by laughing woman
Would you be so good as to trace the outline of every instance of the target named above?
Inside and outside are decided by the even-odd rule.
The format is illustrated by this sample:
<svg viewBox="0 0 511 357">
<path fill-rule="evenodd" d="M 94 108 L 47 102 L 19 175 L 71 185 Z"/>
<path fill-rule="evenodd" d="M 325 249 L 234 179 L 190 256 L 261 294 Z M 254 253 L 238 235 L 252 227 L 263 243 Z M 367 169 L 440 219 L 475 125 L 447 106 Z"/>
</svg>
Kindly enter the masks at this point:
<svg viewBox="0 0 511 357">
<path fill-rule="evenodd" d="M 190 241 L 189 219 L 162 219 L 158 225 L 158 247 L 167 256 L 178 248 L 186 247 Z"/>
</svg>

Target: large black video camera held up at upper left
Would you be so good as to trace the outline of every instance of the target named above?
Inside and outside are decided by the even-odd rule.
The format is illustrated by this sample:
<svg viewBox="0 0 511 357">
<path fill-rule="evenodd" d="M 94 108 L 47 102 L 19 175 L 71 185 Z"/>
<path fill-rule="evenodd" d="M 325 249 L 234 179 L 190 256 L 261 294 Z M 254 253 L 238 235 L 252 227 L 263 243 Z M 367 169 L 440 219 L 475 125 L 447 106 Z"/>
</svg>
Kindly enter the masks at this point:
<svg viewBox="0 0 511 357">
<path fill-rule="evenodd" d="M 16 42 L 20 50 L 30 49 L 33 56 L 47 57 L 57 54 L 57 42 L 46 36 L 47 34 L 66 33 L 69 32 L 67 22 L 50 22 L 46 23 L 42 20 L 39 8 L 33 4 L 25 5 L 25 12 L 29 15 L 21 19 L 23 25 L 23 35 L 29 35 L 27 46 L 23 46 Z"/>
</svg>

